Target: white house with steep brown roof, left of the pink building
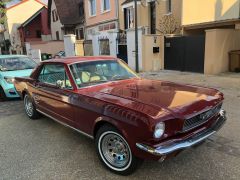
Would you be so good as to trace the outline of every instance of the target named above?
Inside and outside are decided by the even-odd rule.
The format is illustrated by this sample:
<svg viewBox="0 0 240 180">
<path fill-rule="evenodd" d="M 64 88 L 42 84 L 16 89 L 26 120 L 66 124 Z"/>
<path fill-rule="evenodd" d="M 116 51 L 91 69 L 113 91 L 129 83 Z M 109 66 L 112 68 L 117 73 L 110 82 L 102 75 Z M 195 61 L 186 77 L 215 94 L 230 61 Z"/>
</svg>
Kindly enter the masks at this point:
<svg viewBox="0 0 240 180">
<path fill-rule="evenodd" d="M 84 39 L 84 0 L 49 0 L 49 25 L 52 39 L 63 40 L 66 34 L 75 34 L 77 40 Z"/>
</svg>

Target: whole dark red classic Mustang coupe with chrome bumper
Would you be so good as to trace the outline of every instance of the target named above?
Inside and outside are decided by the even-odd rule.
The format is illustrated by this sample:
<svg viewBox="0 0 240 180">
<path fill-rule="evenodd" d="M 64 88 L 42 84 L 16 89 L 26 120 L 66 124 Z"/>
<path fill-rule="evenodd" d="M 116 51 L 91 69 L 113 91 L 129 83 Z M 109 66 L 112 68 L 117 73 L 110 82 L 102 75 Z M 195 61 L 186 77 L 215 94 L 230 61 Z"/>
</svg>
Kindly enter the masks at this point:
<svg viewBox="0 0 240 180">
<path fill-rule="evenodd" d="M 30 119 L 43 114 L 94 139 L 102 163 L 122 175 L 203 142 L 226 121 L 218 90 L 142 79 L 113 57 L 44 61 L 14 83 Z"/>
</svg>

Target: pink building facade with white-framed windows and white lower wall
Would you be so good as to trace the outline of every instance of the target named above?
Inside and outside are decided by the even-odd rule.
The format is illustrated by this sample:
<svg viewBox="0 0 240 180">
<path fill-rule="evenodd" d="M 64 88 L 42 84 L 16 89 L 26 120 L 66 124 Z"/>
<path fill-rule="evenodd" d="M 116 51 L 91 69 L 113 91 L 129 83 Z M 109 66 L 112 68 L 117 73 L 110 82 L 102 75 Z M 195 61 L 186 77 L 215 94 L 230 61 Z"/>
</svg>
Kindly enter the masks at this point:
<svg viewBox="0 0 240 180">
<path fill-rule="evenodd" d="M 85 16 L 93 54 L 117 56 L 118 0 L 86 0 Z"/>
</svg>

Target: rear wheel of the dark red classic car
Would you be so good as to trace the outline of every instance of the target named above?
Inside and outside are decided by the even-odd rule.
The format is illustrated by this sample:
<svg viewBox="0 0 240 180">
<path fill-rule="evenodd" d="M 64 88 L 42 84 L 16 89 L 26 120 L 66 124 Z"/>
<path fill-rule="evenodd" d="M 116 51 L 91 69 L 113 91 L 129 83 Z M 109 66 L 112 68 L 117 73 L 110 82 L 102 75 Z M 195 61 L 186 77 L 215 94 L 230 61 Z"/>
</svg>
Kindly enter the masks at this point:
<svg viewBox="0 0 240 180">
<path fill-rule="evenodd" d="M 24 108 L 27 116 L 30 119 L 38 119 L 39 118 L 39 112 L 37 112 L 36 107 L 33 103 L 33 100 L 29 94 L 26 94 L 24 96 Z"/>
</svg>

